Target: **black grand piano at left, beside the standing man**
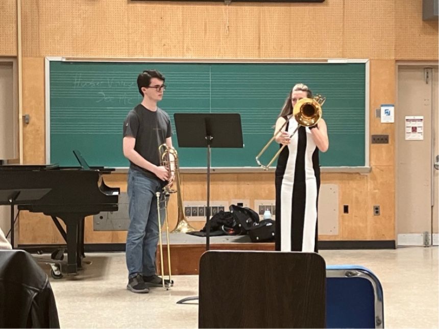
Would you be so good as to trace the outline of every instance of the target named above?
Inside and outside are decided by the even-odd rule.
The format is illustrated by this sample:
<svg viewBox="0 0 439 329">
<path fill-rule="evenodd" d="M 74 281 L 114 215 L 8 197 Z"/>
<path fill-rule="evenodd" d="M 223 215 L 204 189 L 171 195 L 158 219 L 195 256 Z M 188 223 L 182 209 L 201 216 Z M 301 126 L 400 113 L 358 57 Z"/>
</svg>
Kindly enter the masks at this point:
<svg viewBox="0 0 439 329">
<path fill-rule="evenodd" d="M 117 211 L 119 188 L 108 187 L 103 174 L 114 168 L 90 167 L 74 151 L 80 167 L 58 165 L 0 165 L 0 205 L 51 216 L 67 243 L 68 274 L 82 267 L 84 256 L 84 218 L 101 211 Z M 64 231 L 59 222 L 65 225 Z M 14 240 L 11 230 L 11 242 Z"/>
</svg>

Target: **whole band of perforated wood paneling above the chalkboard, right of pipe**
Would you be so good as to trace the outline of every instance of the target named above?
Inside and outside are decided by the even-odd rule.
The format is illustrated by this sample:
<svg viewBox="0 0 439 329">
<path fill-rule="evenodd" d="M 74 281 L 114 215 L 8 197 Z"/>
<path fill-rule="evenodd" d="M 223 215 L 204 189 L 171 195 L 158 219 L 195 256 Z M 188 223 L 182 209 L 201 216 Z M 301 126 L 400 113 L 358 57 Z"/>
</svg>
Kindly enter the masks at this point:
<svg viewBox="0 0 439 329">
<path fill-rule="evenodd" d="M 4 6 L 12 24 L 15 2 Z M 23 56 L 435 60 L 437 21 L 422 21 L 421 11 L 420 2 L 403 0 L 267 6 L 23 0 Z M 150 25 L 156 32 L 143 32 Z M 300 31 L 306 44 L 296 44 Z"/>
</svg>

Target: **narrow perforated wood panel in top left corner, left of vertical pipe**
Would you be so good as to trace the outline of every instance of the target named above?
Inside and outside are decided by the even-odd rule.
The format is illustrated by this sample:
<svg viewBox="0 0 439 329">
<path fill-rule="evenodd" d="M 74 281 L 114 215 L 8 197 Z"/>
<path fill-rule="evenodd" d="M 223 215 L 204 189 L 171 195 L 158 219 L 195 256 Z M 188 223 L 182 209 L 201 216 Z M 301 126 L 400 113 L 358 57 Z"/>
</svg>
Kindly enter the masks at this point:
<svg viewBox="0 0 439 329">
<path fill-rule="evenodd" d="M 0 56 L 17 56 L 17 2 L 0 2 Z"/>
</svg>

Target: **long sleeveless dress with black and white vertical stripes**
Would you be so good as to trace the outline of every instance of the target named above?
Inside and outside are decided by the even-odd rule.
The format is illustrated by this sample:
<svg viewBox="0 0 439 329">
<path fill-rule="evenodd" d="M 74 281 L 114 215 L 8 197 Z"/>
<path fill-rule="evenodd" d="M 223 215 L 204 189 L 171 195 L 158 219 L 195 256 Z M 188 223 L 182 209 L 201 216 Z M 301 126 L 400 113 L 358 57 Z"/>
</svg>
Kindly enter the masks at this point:
<svg viewBox="0 0 439 329">
<path fill-rule="evenodd" d="M 289 120 L 286 131 L 297 128 Z M 319 149 L 301 126 L 279 155 L 276 167 L 276 250 L 318 251 Z"/>
</svg>

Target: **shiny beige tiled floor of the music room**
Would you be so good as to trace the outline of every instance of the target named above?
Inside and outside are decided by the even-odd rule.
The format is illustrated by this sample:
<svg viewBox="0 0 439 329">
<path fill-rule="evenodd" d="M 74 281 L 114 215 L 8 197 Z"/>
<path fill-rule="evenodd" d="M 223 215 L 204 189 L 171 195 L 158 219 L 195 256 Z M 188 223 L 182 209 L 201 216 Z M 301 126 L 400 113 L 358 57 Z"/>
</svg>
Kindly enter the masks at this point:
<svg viewBox="0 0 439 329">
<path fill-rule="evenodd" d="M 327 265 L 355 264 L 373 271 L 384 292 L 386 328 L 437 328 L 438 248 L 322 250 Z M 178 305 L 198 295 L 198 276 L 181 275 L 168 291 L 126 290 L 124 253 L 87 254 L 77 276 L 51 280 L 63 328 L 197 328 L 198 305 Z M 47 255 L 36 256 L 47 258 Z M 48 265 L 41 265 L 48 272 Z M 195 301 L 197 302 L 197 301 Z"/>
</svg>

